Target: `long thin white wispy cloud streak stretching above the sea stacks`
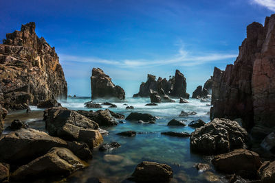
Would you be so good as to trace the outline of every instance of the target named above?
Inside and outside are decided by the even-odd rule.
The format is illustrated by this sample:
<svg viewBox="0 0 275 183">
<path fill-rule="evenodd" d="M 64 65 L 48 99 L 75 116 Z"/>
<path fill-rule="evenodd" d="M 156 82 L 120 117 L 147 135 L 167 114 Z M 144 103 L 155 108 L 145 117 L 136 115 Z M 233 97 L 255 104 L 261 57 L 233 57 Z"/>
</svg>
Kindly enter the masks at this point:
<svg viewBox="0 0 275 183">
<path fill-rule="evenodd" d="M 236 58 L 236 54 L 228 53 L 191 53 L 185 51 L 182 47 L 178 53 L 168 59 L 160 60 L 106 60 L 96 57 L 82 57 L 82 56 L 70 56 L 66 54 L 60 54 L 60 60 L 63 62 L 86 62 L 86 63 L 99 63 L 119 66 L 121 68 L 134 68 L 143 66 L 163 66 L 170 64 L 177 64 L 180 66 L 196 66 L 200 64 L 206 64 L 209 62 L 215 62 L 220 60 L 226 60 Z"/>
</svg>

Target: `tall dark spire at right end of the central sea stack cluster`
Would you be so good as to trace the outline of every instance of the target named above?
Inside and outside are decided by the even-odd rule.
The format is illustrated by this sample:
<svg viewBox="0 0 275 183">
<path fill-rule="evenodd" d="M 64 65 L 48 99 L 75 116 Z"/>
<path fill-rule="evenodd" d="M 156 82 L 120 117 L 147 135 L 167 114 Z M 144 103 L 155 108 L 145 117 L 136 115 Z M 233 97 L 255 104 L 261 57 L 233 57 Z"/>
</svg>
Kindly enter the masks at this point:
<svg viewBox="0 0 275 183">
<path fill-rule="evenodd" d="M 179 70 L 176 70 L 175 81 L 170 95 L 173 97 L 182 97 L 184 99 L 189 99 L 189 94 L 186 93 L 186 85 L 186 78 L 181 72 L 179 72 Z"/>
</svg>

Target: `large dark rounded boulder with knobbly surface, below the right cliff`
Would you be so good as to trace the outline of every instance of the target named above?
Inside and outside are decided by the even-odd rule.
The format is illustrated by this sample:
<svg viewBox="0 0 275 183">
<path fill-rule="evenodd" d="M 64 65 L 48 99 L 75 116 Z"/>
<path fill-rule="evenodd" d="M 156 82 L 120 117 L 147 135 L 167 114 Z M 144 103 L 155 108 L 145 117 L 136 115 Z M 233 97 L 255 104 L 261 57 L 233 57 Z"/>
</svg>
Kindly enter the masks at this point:
<svg viewBox="0 0 275 183">
<path fill-rule="evenodd" d="M 236 121 L 214 119 L 197 128 L 190 137 L 190 149 L 201 154 L 215 155 L 245 149 L 248 132 Z"/>
</svg>

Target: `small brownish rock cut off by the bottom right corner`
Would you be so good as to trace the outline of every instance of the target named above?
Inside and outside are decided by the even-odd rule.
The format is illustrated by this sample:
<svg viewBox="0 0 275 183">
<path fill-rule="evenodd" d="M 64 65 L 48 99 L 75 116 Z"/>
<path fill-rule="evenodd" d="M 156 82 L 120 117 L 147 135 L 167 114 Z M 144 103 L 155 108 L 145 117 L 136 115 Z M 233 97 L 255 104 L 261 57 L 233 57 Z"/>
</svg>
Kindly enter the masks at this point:
<svg viewBox="0 0 275 183">
<path fill-rule="evenodd" d="M 265 161 L 258 170 L 258 177 L 261 182 L 272 183 L 275 182 L 275 161 Z"/>
</svg>

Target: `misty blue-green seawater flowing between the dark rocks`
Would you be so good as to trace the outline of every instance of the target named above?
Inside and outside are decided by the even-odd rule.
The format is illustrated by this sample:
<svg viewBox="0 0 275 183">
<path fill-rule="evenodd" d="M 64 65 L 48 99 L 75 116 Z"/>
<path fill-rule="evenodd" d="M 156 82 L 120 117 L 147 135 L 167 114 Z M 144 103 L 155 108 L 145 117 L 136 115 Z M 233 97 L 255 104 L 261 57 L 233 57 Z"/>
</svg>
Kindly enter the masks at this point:
<svg viewBox="0 0 275 183">
<path fill-rule="evenodd" d="M 153 114 L 157 119 L 156 124 L 141 124 L 137 122 L 125 121 L 114 127 L 102 127 L 109 131 L 108 136 L 104 137 L 104 143 L 118 142 L 122 146 L 108 152 L 101 152 L 94 149 L 93 160 L 90 167 L 78 171 L 72 175 L 69 182 L 91 182 L 91 178 L 99 178 L 102 182 L 122 182 L 128 178 L 135 170 L 137 164 L 143 160 L 165 163 L 172 167 L 174 176 L 172 182 L 223 182 L 219 180 L 218 174 L 212 169 L 206 173 L 199 173 L 193 167 L 196 162 L 210 163 L 209 158 L 199 156 L 190 152 L 189 138 L 178 138 L 161 135 L 161 132 L 192 132 L 192 127 L 168 127 L 167 123 L 171 119 L 185 120 L 186 124 L 192 120 L 202 119 L 209 122 L 210 106 L 202 103 L 199 99 L 188 99 L 189 103 L 159 103 L 158 106 L 145 106 L 150 103 L 150 99 L 133 99 L 127 97 L 123 103 L 114 103 L 118 108 L 111 108 L 113 112 L 124 114 L 125 117 L 131 112 L 142 112 Z M 72 110 L 88 110 L 84 108 L 84 103 L 90 101 L 89 97 L 68 98 L 67 101 L 61 101 L 63 107 Z M 95 100 L 102 103 L 103 100 Z M 124 103 L 133 106 L 133 110 L 126 110 Z M 208 103 L 209 104 L 209 103 Z M 102 106 L 108 108 L 109 106 Z M 89 109 L 91 110 L 91 109 Z M 94 109 L 98 110 L 98 109 Z M 179 117 L 181 110 L 186 112 L 197 112 L 194 116 Z M 25 111 L 10 112 L 5 120 L 5 126 L 10 125 L 13 119 L 26 121 L 30 127 L 45 130 L 43 121 L 43 110 L 32 107 L 32 112 L 26 114 Z M 126 130 L 142 132 L 134 137 L 118 136 L 116 133 Z M 107 154 L 116 155 L 107 158 Z M 105 156 L 105 157 L 104 157 Z M 122 160 L 120 160 L 122 159 Z"/>
</svg>

